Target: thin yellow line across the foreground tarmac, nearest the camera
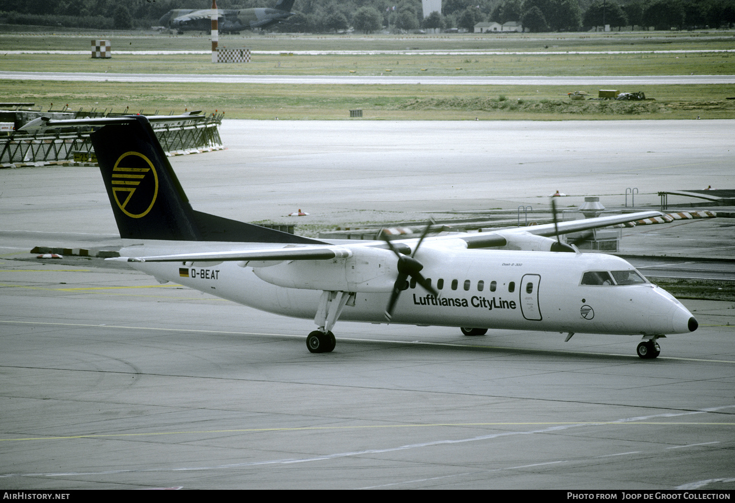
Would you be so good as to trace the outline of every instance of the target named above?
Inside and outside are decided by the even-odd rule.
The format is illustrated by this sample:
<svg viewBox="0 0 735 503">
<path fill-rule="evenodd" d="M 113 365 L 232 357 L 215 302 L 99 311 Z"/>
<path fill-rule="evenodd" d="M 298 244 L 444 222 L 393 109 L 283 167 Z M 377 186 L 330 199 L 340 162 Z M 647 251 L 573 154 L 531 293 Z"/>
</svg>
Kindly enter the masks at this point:
<svg viewBox="0 0 735 503">
<path fill-rule="evenodd" d="M 366 430 L 377 428 L 426 428 L 426 427 L 478 427 L 478 426 L 563 426 L 566 424 L 580 424 L 591 426 L 735 426 L 735 422 L 675 422 L 675 421 L 539 421 L 539 422 L 494 422 L 494 423 L 434 423 L 434 424 L 363 424 L 361 426 L 303 426 L 293 428 L 242 428 L 237 430 L 191 430 L 173 432 L 152 433 L 92 433 L 90 435 L 63 435 L 57 437 L 24 437 L 24 438 L 0 438 L 0 442 L 7 441 L 30 441 L 30 440 L 70 440 L 73 438 L 120 438 L 120 437 L 145 437 L 158 435 L 203 435 L 207 433 L 265 433 L 265 432 L 291 432 L 291 431 L 314 431 L 314 430 Z"/>
</svg>

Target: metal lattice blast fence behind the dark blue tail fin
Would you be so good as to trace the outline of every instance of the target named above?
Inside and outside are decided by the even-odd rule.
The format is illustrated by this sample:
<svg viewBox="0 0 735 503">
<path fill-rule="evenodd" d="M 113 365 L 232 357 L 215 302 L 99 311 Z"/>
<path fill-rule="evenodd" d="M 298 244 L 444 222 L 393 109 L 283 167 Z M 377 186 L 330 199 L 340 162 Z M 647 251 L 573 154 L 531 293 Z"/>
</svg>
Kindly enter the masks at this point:
<svg viewBox="0 0 735 503">
<path fill-rule="evenodd" d="M 206 119 L 158 123 L 154 132 L 169 155 L 223 148 L 219 126 L 222 115 Z M 0 137 L 0 164 L 73 161 L 74 153 L 93 155 L 91 131 L 57 132 L 53 134 L 10 134 Z"/>
</svg>

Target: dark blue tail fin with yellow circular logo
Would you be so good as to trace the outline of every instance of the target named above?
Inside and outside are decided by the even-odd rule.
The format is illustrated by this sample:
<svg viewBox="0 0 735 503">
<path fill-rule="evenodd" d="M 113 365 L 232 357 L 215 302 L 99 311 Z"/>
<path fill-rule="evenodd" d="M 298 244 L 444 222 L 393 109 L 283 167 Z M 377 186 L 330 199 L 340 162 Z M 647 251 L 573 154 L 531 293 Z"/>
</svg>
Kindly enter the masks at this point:
<svg viewBox="0 0 735 503">
<path fill-rule="evenodd" d="M 192 209 L 143 115 L 90 135 L 122 238 L 320 244 Z"/>
</svg>

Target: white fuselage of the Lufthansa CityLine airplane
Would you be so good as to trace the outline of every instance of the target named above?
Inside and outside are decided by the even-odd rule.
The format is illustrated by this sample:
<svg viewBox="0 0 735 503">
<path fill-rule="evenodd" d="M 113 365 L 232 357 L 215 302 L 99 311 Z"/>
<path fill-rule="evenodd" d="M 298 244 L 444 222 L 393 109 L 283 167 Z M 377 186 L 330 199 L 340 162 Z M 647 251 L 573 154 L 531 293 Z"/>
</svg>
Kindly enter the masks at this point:
<svg viewBox="0 0 735 503">
<path fill-rule="evenodd" d="M 209 245 L 212 249 L 213 244 Z M 221 243 L 217 247 L 226 250 L 232 245 Z M 183 248 L 187 246 L 191 247 L 191 243 L 182 243 Z M 121 253 L 155 253 L 154 249 L 134 248 Z M 186 251 L 182 249 L 182 253 Z M 429 246 L 422 247 L 416 258 L 424 265 L 423 275 L 431 278 L 440 296 L 426 292 L 415 282 L 409 283 L 395 305 L 392 323 L 626 335 L 692 330 L 692 314 L 664 289 L 645 280 L 634 284 L 583 284 L 586 272 L 635 271 L 622 258 L 596 253 Z M 265 265 L 243 267 L 232 261 L 132 264 L 156 278 L 236 303 L 313 319 L 321 292 L 274 284 L 290 280 L 290 263 Z M 385 270 L 382 274 L 387 276 L 387 283 L 395 281 L 395 272 Z M 389 297 L 390 290 L 356 292 L 354 305 L 346 306 L 340 319 L 384 323 Z"/>
</svg>

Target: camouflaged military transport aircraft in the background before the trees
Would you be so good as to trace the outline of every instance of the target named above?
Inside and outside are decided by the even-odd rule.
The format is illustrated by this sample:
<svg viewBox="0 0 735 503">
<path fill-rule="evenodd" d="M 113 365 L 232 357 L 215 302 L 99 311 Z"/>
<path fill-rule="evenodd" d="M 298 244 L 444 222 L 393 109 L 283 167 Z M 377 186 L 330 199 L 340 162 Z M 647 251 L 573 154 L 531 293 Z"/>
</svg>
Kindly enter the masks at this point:
<svg viewBox="0 0 735 503">
<path fill-rule="evenodd" d="M 265 28 L 271 24 L 280 23 L 293 15 L 293 12 L 290 12 L 293 2 L 294 0 L 279 0 L 273 9 L 268 7 L 218 9 L 218 30 L 232 33 L 243 29 Z M 212 28 L 212 9 L 169 10 L 158 23 L 179 32 L 209 32 Z"/>
</svg>

